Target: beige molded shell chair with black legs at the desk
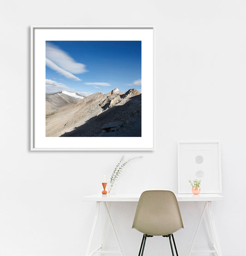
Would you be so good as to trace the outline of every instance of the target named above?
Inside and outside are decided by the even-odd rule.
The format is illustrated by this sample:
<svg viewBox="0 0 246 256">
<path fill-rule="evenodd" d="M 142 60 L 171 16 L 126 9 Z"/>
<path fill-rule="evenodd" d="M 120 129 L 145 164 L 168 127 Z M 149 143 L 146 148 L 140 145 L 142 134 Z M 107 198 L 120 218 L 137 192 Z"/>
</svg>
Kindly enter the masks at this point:
<svg viewBox="0 0 246 256">
<path fill-rule="evenodd" d="M 143 256 L 147 237 L 168 237 L 174 256 L 178 256 L 173 233 L 184 228 L 178 201 L 173 192 L 168 190 L 144 191 L 138 201 L 132 228 L 144 233 L 138 256 Z"/>
</svg>

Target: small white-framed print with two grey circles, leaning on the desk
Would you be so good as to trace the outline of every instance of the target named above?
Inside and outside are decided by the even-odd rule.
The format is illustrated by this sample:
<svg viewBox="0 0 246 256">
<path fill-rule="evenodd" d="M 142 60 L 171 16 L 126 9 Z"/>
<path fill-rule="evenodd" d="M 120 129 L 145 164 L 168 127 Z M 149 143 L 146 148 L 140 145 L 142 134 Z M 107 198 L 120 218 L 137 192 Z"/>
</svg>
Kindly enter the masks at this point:
<svg viewBox="0 0 246 256">
<path fill-rule="evenodd" d="M 178 192 L 191 194 L 189 180 L 201 180 L 201 194 L 222 193 L 218 141 L 178 143 Z"/>
</svg>

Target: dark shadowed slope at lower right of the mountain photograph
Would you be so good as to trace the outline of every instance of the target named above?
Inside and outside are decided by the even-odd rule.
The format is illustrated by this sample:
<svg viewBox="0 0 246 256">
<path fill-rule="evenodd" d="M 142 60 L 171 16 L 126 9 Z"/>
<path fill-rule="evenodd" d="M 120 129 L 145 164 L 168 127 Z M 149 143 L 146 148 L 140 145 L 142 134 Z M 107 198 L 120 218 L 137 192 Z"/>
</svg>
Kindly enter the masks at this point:
<svg viewBox="0 0 246 256">
<path fill-rule="evenodd" d="M 120 125 L 108 132 L 102 130 L 104 125 L 112 122 Z M 113 106 L 92 117 L 60 137 L 141 137 L 141 94 L 131 97 L 124 105 Z"/>
</svg>

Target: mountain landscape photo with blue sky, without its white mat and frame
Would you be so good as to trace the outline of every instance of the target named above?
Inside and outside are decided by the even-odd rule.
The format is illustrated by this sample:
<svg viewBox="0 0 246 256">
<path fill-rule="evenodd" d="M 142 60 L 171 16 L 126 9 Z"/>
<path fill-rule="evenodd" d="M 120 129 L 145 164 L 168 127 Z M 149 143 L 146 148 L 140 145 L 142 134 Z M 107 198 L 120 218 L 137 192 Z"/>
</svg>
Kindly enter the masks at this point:
<svg viewBox="0 0 246 256">
<path fill-rule="evenodd" d="M 141 137 L 141 41 L 46 42 L 45 99 L 46 137 Z"/>
</svg>

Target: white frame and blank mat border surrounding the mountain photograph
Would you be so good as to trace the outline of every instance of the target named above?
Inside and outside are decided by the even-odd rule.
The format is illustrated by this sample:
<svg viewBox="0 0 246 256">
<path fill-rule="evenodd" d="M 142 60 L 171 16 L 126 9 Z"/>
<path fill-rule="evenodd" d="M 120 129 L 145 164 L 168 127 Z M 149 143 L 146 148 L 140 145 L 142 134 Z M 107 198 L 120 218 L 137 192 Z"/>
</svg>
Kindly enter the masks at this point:
<svg viewBox="0 0 246 256">
<path fill-rule="evenodd" d="M 154 150 L 154 26 L 31 26 L 31 150 Z M 46 137 L 45 41 L 142 41 L 142 137 Z"/>
</svg>

